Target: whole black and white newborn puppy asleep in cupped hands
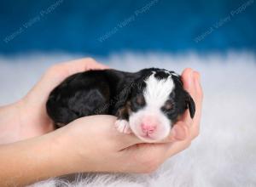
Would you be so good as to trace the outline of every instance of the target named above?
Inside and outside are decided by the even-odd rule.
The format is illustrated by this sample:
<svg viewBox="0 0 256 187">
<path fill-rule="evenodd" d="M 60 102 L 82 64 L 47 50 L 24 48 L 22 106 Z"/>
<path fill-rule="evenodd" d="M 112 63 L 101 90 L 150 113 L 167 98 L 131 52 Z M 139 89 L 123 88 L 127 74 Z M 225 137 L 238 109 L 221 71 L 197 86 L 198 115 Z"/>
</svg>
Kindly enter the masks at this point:
<svg viewBox="0 0 256 187">
<path fill-rule="evenodd" d="M 195 103 L 174 71 L 149 68 L 135 73 L 98 70 L 75 74 L 57 86 L 47 101 L 57 127 L 82 116 L 117 116 L 120 132 L 146 142 L 165 139 L 179 116 Z"/>
</svg>

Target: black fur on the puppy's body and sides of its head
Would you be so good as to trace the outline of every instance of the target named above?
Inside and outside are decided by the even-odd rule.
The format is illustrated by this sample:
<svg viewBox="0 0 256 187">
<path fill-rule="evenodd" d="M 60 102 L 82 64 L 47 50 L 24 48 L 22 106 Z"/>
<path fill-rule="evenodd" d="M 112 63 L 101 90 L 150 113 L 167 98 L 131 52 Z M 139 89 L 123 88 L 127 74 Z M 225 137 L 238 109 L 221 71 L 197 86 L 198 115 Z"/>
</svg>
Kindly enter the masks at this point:
<svg viewBox="0 0 256 187">
<path fill-rule="evenodd" d="M 46 104 L 56 127 L 62 127 L 82 116 L 108 114 L 129 121 L 131 112 L 141 110 L 147 103 L 143 98 L 144 80 L 155 71 L 163 79 L 170 74 L 156 68 L 135 73 L 116 70 L 85 71 L 67 77 L 50 94 Z M 174 73 L 173 71 L 168 71 Z M 188 108 L 195 114 L 195 103 L 183 89 L 181 77 L 172 76 L 175 88 L 161 111 L 172 121 Z M 170 105 L 172 107 L 170 108 Z"/>
</svg>

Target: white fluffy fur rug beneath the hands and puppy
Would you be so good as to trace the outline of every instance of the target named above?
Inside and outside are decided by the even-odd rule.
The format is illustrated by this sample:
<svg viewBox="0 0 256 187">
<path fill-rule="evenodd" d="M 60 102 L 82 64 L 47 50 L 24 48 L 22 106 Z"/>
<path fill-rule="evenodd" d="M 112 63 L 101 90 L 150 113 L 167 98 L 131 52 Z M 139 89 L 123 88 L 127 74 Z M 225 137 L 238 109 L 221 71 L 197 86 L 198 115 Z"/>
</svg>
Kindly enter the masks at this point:
<svg viewBox="0 0 256 187">
<path fill-rule="evenodd" d="M 78 56 L 0 57 L 0 105 L 26 94 L 49 65 L 74 58 Z M 119 54 L 99 60 L 125 71 L 151 66 L 200 71 L 205 94 L 200 136 L 152 174 L 84 175 L 73 182 L 49 179 L 33 186 L 256 186 L 255 54 Z"/>
</svg>

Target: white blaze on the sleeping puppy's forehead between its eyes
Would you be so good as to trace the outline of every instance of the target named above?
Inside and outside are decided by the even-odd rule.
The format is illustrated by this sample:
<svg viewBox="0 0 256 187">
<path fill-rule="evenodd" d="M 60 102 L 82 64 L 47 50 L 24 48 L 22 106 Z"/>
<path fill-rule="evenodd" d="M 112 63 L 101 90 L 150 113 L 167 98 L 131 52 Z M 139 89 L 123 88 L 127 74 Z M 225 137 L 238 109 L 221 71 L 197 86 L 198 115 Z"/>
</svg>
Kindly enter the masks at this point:
<svg viewBox="0 0 256 187">
<path fill-rule="evenodd" d="M 174 83 L 171 75 L 167 78 L 157 79 L 154 74 L 155 72 L 145 81 L 146 88 L 143 95 L 147 105 L 161 107 L 172 93 Z"/>
</svg>

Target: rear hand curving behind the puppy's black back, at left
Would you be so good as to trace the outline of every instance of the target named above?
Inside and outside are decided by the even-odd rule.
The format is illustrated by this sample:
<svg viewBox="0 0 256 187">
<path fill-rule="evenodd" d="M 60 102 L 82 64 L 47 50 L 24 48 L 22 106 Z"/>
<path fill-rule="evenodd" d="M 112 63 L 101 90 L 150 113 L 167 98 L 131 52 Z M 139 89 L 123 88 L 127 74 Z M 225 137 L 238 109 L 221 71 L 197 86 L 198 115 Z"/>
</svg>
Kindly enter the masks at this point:
<svg viewBox="0 0 256 187">
<path fill-rule="evenodd" d="M 25 97 L 11 106 L 9 111 L 12 111 L 16 120 L 13 122 L 15 125 L 9 126 L 9 131 L 12 132 L 9 142 L 40 136 L 54 130 L 45 108 L 51 90 L 75 73 L 106 68 L 106 65 L 90 58 L 76 59 L 50 67 Z"/>
</svg>

